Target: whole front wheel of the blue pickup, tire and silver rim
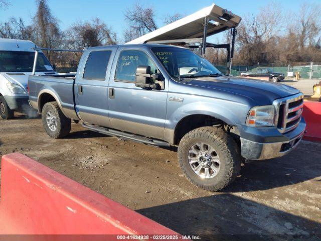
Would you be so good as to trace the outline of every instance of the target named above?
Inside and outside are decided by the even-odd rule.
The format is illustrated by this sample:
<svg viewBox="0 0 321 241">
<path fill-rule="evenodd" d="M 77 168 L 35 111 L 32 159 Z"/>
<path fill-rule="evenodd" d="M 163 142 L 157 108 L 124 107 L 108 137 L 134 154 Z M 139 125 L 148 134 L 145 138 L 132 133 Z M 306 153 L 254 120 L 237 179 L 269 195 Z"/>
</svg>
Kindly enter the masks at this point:
<svg viewBox="0 0 321 241">
<path fill-rule="evenodd" d="M 187 133 L 180 142 L 178 158 L 187 179 L 209 191 L 231 184 L 241 169 L 237 144 L 224 130 L 214 127 Z"/>
</svg>

